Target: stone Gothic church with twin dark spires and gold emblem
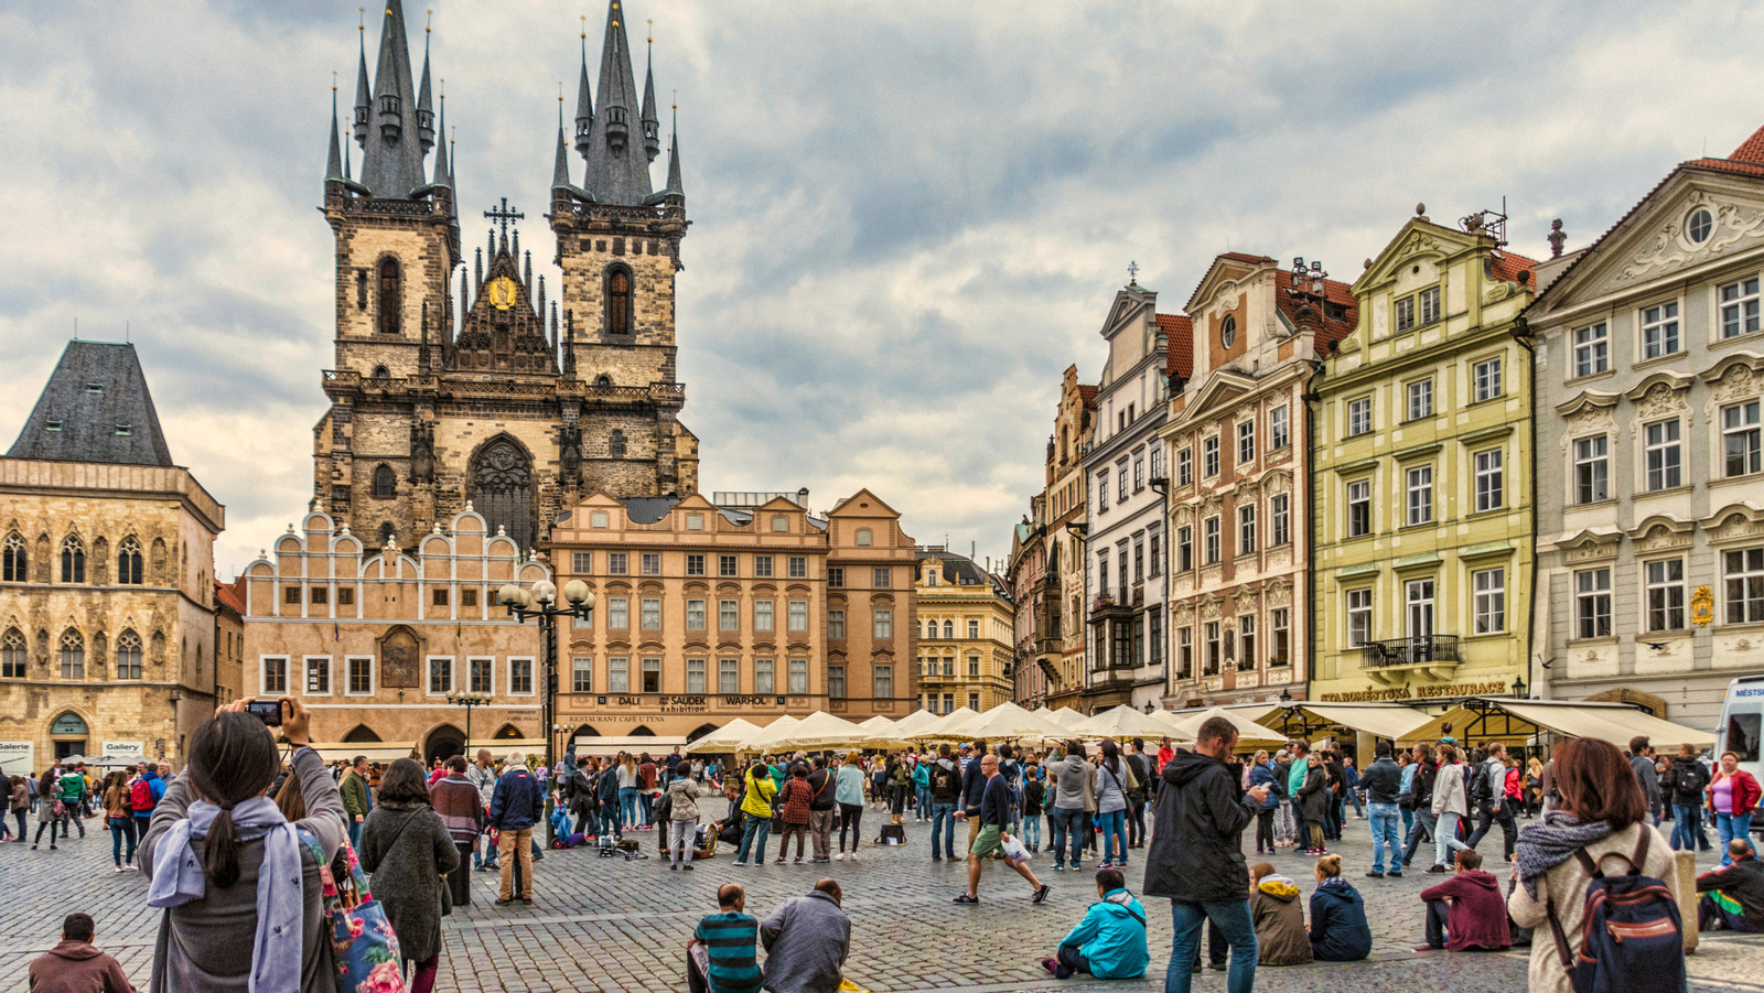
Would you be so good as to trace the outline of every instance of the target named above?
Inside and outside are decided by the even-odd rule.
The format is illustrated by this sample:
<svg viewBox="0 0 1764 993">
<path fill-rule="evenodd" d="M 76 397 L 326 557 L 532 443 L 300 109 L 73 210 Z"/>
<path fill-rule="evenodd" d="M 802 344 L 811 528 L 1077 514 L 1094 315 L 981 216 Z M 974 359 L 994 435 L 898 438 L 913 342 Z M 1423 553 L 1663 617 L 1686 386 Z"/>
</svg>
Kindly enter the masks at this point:
<svg viewBox="0 0 1764 993">
<path fill-rule="evenodd" d="M 506 201 L 485 212 L 496 228 L 466 266 L 450 150 L 437 139 L 446 109 L 434 113 L 429 79 L 425 53 L 413 88 L 393 2 L 372 83 L 365 53 L 356 74 L 360 176 L 333 111 L 323 212 L 337 240 L 335 362 L 325 370 L 332 406 L 314 429 L 319 506 L 374 545 L 411 545 L 471 503 L 492 534 L 531 550 L 587 494 L 695 492 L 699 446 L 679 422 L 676 377 L 674 277 L 688 224 L 679 146 L 676 136 L 667 187 L 653 190 L 654 79 L 639 99 L 619 0 L 598 104 L 582 63 L 580 183 L 557 132 L 557 300 L 533 279 L 512 231 L 524 215 Z"/>
</svg>

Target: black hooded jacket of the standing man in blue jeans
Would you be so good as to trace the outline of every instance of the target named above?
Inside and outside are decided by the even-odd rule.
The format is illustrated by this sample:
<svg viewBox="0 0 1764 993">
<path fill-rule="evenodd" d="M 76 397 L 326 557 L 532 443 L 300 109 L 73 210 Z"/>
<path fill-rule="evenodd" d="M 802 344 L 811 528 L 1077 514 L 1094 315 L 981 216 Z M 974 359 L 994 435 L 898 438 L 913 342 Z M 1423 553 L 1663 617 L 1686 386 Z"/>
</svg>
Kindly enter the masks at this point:
<svg viewBox="0 0 1764 993">
<path fill-rule="evenodd" d="M 1238 792 L 1224 762 L 1177 751 L 1157 790 L 1143 892 L 1192 903 L 1249 900 L 1242 832 L 1259 806 Z"/>
</svg>

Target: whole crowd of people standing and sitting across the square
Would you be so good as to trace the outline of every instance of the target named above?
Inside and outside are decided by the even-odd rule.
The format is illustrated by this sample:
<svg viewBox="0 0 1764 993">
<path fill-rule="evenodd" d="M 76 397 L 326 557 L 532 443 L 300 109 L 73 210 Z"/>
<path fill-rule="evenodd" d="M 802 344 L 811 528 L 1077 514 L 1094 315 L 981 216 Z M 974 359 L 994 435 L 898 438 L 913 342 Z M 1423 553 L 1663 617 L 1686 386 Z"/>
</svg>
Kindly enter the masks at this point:
<svg viewBox="0 0 1764 993">
<path fill-rule="evenodd" d="M 356 864 L 365 870 L 397 937 L 397 961 L 386 968 L 407 970 L 409 989 L 429 993 L 443 952 L 441 917 L 471 901 L 471 873 L 497 871 L 497 905 L 531 903 L 542 841 L 568 848 L 593 840 L 603 854 L 642 857 L 626 836 L 653 831 L 658 864 L 670 871 L 691 871 L 693 859 L 729 850 L 736 866 L 759 868 L 767 855 L 773 864 L 820 864 L 903 841 L 898 825 L 908 815 L 930 825 L 933 861 L 967 862 L 967 885 L 953 896 L 958 905 L 981 903 L 990 861 L 1020 877 L 1039 905 L 1051 885 L 1030 868 L 1032 854 L 1051 854 L 1053 871 L 1083 871 L 1092 859 L 1097 900 L 1043 959 L 1057 977 L 1143 975 L 1150 951 L 1141 898 L 1170 901 L 1166 989 L 1177 993 L 1203 967 L 1203 930 L 1207 965 L 1228 974 L 1233 993 L 1251 988 L 1258 967 L 1367 958 L 1365 901 L 1342 877 L 1341 854 L 1328 850 L 1344 843 L 1349 808 L 1367 822 L 1372 880 L 1401 878 L 1432 843 L 1427 871 L 1445 878 L 1418 894 L 1415 933 L 1425 942 L 1418 949 L 1529 944 L 1533 989 L 1570 988 L 1570 968 L 1581 968 L 1566 956 L 1570 937 L 1595 933 L 1582 928 L 1595 912 L 1582 894 L 1612 885 L 1607 859 L 1671 891 L 1672 848 L 1706 847 L 1704 817 L 1716 825 L 1723 859 L 1697 880 L 1699 926 L 1764 931 L 1764 864 L 1748 818 L 1759 783 L 1734 753 L 1704 764 L 1686 748 L 1662 760 L 1646 739 L 1626 753 L 1573 739 L 1547 762 L 1521 762 L 1501 743 L 1468 748 L 1443 737 L 1402 751 L 1378 743 L 1372 762 L 1358 769 L 1353 755 L 1305 739 L 1244 755 L 1235 727 L 1215 718 L 1192 748 L 1131 739 L 1035 751 L 974 741 L 730 765 L 674 750 L 568 755 L 550 769 L 520 751 L 499 760 L 478 751 L 471 762 L 455 755 L 427 769 L 411 758 L 381 767 L 365 757 L 328 767 L 309 746 L 298 700 L 282 700 L 279 728 L 245 704 L 222 707 L 198 728 L 176 778 L 166 764 L 102 780 L 56 764 L 39 778 L 11 780 L 19 841 L 34 808 L 39 838 L 49 827 L 51 848 L 56 831 L 65 840 L 69 825 L 83 832 L 85 817 L 102 815 L 115 871 L 148 873 L 148 903 L 166 912 L 155 988 L 316 988 L 333 954 L 321 866 L 337 877 Z M 291 748 L 286 760 L 277 732 Z M 868 845 L 866 808 L 887 817 Z M 1672 820 L 1671 843 L 1658 831 L 1662 818 Z M 1521 829 L 1522 820 L 1531 824 Z M 773 834 L 776 852 L 767 847 Z M 1245 834 L 1261 857 L 1254 864 L 1244 854 Z M 1307 859 L 1311 868 L 1282 871 L 1272 861 L 1279 855 Z M 1138 894 L 1129 878 L 1136 864 L 1145 866 Z M 1307 877 L 1309 898 L 1300 882 Z M 1672 928 L 1676 921 L 1674 910 Z M 78 963 L 97 982 L 116 982 L 115 959 L 97 951 L 92 935 L 90 917 L 71 915 L 62 944 L 39 965 Z M 1676 930 L 1671 937 L 1678 940 Z M 254 952 L 245 959 L 238 947 Z M 757 949 L 767 952 L 764 968 Z M 836 880 L 822 878 L 764 921 L 746 914 L 744 889 L 729 884 L 718 891 L 718 912 L 693 931 L 688 972 L 709 993 L 836 989 L 848 951 L 850 921 Z"/>
</svg>

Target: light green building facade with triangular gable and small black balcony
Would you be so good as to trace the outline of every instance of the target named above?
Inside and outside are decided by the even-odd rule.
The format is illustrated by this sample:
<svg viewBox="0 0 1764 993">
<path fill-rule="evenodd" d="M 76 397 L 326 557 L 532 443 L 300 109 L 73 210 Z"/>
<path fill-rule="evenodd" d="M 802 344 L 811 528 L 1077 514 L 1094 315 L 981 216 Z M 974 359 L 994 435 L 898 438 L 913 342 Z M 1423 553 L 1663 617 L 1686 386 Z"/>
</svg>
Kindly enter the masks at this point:
<svg viewBox="0 0 1764 993">
<path fill-rule="evenodd" d="M 1531 614 L 1536 263 L 1484 213 L 1409 219 L 1353 284 L 1314 379 L 1309 698 L 1508 695 Z"/>
</svg>

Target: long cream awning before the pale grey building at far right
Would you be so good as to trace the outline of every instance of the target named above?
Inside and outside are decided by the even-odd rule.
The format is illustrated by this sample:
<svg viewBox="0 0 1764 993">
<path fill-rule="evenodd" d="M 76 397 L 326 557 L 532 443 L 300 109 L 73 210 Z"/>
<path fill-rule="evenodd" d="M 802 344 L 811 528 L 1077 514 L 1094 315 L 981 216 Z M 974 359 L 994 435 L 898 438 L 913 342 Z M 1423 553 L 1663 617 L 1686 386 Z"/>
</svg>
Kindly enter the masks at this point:
<svg viewBox="0 0 1764 993">
<path fill-rule="evenodd" d="M 1429 720 L 1402 737 L 1402 741 L 1434 741 L 1452 725 L 1452 735 L 1475 744 L 1484 739 L 1531 737 L 1559 734 L 1563 737 L 1598 737 L 1628 748 L 1635 735 L 1648 735 L 1655 748 L 1693 744 L 1715 746 L 1715 735 L 1693 727 L 1672 723 L 1628 704 L 1589 704 L 1584 700 L 1514 700 L 1505 697 L 1475 697 L 1462 706 Z"/>
</svg>

